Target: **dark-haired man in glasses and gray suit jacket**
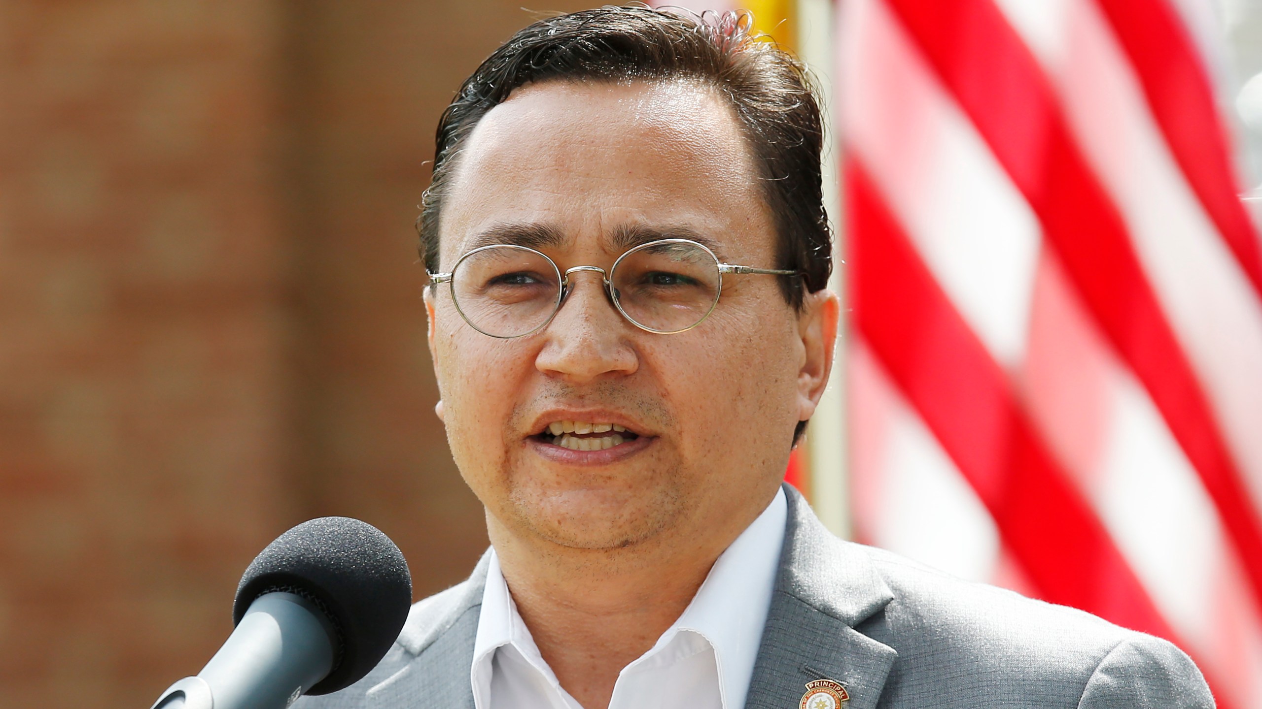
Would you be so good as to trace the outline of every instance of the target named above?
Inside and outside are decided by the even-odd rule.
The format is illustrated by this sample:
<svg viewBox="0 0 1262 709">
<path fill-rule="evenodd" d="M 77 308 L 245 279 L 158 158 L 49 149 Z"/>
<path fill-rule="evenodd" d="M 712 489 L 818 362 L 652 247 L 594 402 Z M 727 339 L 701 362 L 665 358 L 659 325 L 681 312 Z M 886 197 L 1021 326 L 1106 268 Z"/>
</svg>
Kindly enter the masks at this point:
<svg viewBox="0 0 1262 709">
<path fill-rule="evenodd" d="M 1212 706 L 1185 655 L 829 535 L 818 106 L 736 15 L 536 23 L 443 115 L 429 346 L 492 549 L 305 706 Z"/>
</svg>

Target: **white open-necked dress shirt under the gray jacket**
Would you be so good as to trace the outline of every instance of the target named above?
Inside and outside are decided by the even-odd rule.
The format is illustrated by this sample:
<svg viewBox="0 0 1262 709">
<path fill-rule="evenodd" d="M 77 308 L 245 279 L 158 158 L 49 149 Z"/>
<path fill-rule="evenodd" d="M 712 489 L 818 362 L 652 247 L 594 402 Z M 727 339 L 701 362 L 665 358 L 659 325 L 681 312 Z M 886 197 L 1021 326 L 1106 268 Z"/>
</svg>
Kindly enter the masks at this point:
<svg viewBox="0 0 1262 709">
<path fill-rule="evenodd" d="M 781 489 L 719 555 L 684 613 L 618 672 L 610 709 L 741 709 L 785 534 Z M 539 653 L 491 551 L 473 645 L 476 709 L 582 709 Z"/>
</svg>

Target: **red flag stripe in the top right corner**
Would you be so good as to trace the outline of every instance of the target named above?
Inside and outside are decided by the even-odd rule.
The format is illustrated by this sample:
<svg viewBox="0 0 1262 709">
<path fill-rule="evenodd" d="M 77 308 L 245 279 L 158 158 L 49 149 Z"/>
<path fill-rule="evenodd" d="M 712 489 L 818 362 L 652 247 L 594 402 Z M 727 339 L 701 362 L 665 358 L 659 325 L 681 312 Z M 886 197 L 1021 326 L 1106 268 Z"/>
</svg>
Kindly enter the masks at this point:
<svg viewBox="0 0 1262 709">
<path fill-rule="evenodd" d="M 1262 298 L 1262 242 L 1237 193 L 1205 66 L 1166 0 L 1097 0 L 1143 87 L 1170 151 Z"/>
</svg>

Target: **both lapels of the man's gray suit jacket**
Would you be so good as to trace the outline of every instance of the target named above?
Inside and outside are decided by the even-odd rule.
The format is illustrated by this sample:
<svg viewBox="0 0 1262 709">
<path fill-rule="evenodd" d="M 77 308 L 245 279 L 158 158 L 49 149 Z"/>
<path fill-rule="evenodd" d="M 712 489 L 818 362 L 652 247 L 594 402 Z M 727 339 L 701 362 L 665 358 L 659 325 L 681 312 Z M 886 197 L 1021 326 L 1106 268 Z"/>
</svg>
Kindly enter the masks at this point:
<svg viewBox="0 0 1262 709">
<path fill-rule="evenodd" d="M 893 594 L 862 546 L 833 536 L 798 491 L 784 489 L 785 541 L 745 705 L 795 706 L 806 683 L 830 679 L 851 696 L 844 709 L 871 709 L 897 653 L 854 628 Z M 469 666 L 488 561 L 483 555 L 466 583 L 414 607 L 399 643 L 415 657 L 369 690 L 369 709 L 473 708 Z"/>
</svg>

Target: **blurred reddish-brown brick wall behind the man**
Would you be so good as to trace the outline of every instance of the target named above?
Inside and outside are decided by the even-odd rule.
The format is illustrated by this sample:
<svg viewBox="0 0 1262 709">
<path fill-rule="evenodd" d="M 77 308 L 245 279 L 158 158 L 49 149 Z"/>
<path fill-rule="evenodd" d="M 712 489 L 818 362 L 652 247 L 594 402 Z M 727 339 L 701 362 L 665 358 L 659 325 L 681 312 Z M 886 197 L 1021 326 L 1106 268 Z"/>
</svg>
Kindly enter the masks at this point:
<svg viewBox="0 0 1262 709">
<path fill-rule="evenodd" d="M 519 8 L 0 4 L 0 706 L 146 706 L 303 519 L 468 573 L 411 222 Z"/>
</svg>

